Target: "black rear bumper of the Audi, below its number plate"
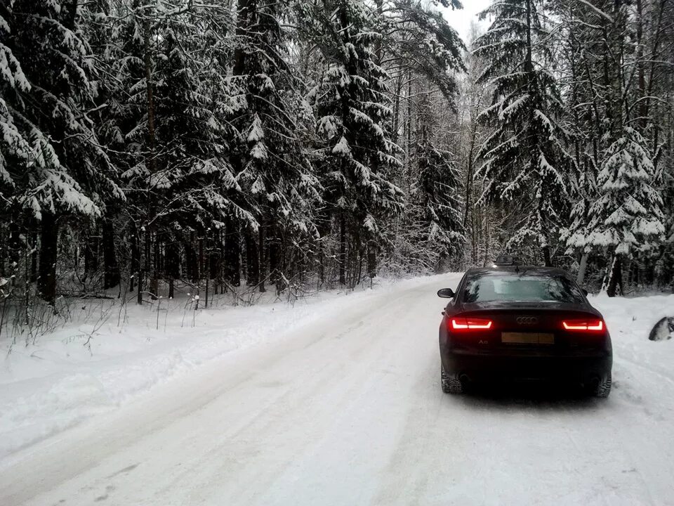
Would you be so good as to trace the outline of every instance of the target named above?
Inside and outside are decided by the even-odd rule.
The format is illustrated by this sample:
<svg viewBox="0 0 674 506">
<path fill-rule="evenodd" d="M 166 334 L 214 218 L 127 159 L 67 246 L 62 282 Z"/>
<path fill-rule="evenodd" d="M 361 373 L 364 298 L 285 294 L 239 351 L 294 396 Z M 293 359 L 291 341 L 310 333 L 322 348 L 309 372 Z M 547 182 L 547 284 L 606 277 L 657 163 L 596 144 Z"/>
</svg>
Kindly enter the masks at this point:
<svg viewBox="0 0 674 506">
<path fill-rule="evenodd" d="M 613 364 L 609 350 L 544 354 L 446 349 L 441 355 L 444 370 L 474 382 L 547 379 L 587 383 L 609 375 Z"/>
</svg>

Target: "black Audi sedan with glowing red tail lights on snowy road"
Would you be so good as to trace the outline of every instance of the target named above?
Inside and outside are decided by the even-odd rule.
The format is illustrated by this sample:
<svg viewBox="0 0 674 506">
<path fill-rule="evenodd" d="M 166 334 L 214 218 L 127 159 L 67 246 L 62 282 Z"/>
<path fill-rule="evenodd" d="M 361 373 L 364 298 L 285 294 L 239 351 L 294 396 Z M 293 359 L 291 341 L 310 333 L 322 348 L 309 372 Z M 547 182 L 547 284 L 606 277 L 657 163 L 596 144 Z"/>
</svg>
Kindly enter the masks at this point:
<svg viewBox="0 0 674 506">
<path fill-rule="evenodd" d="M 442 391 L 471 382 L 553 380 L 588 394 L 611 391 L 611 337 L 602 314 L 576 281 L 557 268 L 468 270 L 440 325 Z"/>
</svg>

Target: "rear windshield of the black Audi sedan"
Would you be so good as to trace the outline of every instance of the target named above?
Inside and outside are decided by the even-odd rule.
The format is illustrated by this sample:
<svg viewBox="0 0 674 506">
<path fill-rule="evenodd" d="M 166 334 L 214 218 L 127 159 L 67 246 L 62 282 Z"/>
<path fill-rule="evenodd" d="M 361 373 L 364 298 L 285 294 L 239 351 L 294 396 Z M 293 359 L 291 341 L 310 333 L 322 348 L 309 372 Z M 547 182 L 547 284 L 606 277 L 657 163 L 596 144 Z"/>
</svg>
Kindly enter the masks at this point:
<svg viewBox="0 0 674 506">
<path fill-rule="evenodd" d="M 578 285 L 562 275 L 480 273 L 468 278 L 464 302 L 575 302 L 583 301 Z"/>
</svg>

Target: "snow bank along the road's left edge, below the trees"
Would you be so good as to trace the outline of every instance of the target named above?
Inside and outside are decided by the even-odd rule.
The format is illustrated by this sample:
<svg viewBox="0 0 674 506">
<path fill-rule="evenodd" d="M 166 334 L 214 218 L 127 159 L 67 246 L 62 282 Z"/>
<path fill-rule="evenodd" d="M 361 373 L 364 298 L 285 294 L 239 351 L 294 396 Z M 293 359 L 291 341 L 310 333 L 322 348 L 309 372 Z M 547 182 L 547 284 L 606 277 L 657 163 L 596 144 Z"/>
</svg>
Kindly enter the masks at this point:
<svg viewBox="0 0 674 506">
<path fill-rule="evenodd" d="M 192 311 L 184 309 L 185 301 L 173 301 L 170 311 L 159 311 L 159 319 L 156 309 L 128 304 L 124 314 L 115 309 L 103 325 L 83 318 L 35 344 L 15 344 L 11 352 L 5 340 L 0 343 L 5 357 L 0 363 L 0 460 L 199 364 L 283 339 L 318 318 L 339 318 L 350 306 L 428 279 L 380 280 L 374 290 L 322 292 L 294 306 L 268 302 Z"/>
</svg>

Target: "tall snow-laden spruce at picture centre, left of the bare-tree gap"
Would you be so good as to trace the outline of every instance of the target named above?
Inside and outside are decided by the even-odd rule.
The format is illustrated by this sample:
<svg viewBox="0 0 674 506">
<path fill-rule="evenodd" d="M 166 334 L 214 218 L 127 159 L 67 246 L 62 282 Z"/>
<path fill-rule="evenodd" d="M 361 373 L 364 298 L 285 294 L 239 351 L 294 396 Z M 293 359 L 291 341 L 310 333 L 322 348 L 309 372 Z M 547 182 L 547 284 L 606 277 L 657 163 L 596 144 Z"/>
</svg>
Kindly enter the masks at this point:
<svg viewBox="0 0 674 506">
<path fill-rule="evenodd" d="M 355 254 L 368 258 L 384 238 L 381 219 L 401 209 L 402 192 L 390 182 L 400 167 L 391 141 L 386 72 L 374 52 L 381 34 L 372 31 L 371 11 L 359 1 L 324 1 L 312 13 L 312 32 L 326 65 L 310 93 L 325 147 L 322 183 L 340 236 L 340 283 L 346 283 L 347 234 Z"/>
</svg>

